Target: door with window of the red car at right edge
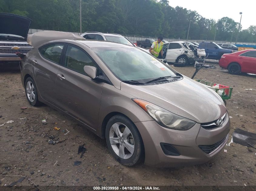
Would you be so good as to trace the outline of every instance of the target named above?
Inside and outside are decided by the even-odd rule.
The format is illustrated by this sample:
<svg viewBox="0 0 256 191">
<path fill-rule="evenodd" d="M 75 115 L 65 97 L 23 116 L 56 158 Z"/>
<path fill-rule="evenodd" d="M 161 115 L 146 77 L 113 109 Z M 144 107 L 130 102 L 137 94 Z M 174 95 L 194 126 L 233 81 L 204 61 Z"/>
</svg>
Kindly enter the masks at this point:
<svg viewBox="0 0 256 191">
<path fill-rule="evenodd" d="M 256 74 L 256 50 L 248 51 L 238 56 L 241 72 Z"/>
</svg>

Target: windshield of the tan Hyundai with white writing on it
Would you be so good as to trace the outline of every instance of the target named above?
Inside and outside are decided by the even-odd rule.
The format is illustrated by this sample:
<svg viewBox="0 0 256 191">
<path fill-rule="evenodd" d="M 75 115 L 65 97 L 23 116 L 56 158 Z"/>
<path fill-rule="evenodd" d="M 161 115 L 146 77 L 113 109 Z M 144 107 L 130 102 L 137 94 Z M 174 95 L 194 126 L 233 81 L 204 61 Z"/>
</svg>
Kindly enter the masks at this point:
<svg viewBox="0 0 256 191">
<path fill-rule="evenodd" d="M 136 48 L 92 48 L 121 81 L 145 83 L 153 78 L 176 76 L 166 64 Z"/>
</svg>

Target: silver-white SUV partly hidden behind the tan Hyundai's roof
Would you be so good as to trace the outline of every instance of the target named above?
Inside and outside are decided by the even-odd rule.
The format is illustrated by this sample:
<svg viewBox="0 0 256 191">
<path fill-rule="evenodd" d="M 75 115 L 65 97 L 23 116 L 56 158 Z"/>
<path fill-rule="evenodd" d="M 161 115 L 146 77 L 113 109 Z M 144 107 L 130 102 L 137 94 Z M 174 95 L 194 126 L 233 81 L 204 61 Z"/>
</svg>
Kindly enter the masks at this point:
<svg viewBox="0 0 256 191">
<path fill-rule="evenodd" d="M 115 43 L 121 43 L 131 46 L 136 46 L 126 37 L 122 36 L 121 34 L 112 34 L 112 33 L 101 33 L 101 32 L 85 32 L 81 34 L 81 37 L 85 39 L 92 39 L 92 40 L 107 40 Z"/>
</svg>

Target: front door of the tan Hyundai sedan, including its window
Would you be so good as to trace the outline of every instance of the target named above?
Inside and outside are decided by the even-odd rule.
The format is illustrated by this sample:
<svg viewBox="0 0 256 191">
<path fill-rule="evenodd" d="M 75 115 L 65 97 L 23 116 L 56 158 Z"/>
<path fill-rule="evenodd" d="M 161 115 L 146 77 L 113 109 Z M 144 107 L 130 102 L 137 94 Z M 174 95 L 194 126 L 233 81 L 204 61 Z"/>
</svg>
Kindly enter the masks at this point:
<svg viewBox="0 0 256 191">
<path fill-rule="evenodd" d="M 56 102 L 66 113 L 95 129 L 104 83 L 92 80 L 84 72 L 85 65 L 98 68 L 88 53 L 68 44 L 57 72 Z"/>
</svg>

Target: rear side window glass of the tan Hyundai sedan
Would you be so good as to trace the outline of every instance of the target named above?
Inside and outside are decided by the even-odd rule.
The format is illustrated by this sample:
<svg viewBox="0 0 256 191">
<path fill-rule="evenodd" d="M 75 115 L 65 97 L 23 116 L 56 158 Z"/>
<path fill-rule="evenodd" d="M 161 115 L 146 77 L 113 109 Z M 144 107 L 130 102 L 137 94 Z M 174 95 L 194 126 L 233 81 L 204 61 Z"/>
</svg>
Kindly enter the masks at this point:
<svg viewBox="0 0 256 191">
<path fill-rule="evenodd" d="M 59 64 L 64 44 L 51 44 L 39 49 L 41 55 L 52 62 Z"/>
</svg>

